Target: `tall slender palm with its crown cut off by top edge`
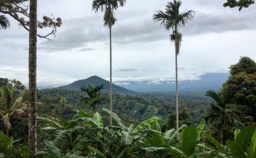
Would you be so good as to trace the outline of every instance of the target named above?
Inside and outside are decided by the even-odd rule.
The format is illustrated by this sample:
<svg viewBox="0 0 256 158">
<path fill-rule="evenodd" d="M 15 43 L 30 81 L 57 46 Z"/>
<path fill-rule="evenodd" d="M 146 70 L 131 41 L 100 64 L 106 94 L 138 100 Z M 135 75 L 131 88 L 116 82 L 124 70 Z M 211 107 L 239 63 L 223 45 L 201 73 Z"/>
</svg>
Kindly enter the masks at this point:
<svg viewBox="0 0 256 158">
<path fill-rule="evenodd" d="M 119 6 L 124 6 L 126 0 L 93 0 L 92 10 L 95 12 L 104 12 L 104 26 L 109 28 L 109 43 L 110 43 L 110 94 L 109 94 L 109 108 L 112 111 L 112 38 L 111 28 L 115 24 L 116 18 L 114 17 L 114 10 Z M 110 115 L 110 125 L 112 125 L 112 117 Z"/>
</svg>

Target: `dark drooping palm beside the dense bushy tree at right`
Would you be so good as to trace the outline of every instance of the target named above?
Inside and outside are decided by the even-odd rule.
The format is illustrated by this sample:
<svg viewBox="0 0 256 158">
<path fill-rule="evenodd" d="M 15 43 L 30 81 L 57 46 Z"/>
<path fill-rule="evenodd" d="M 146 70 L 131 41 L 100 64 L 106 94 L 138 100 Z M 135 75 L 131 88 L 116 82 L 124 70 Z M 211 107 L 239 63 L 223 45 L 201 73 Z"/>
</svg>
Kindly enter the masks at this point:
<svg viewBox="0 0 256 158">
<path fill-rule="evenodd" d="M 215 92 L 208 90 L 205 96 L 213 98 L 204 118 L 217 130 L 217 140 L 223 144 L 229 138 L 231 127 L 242 128 L 244 125 L 238 121 L 239 113 L 236 107 L 232 107 L 232 98 L 235 93 L 231 91 Z"/>
</svg>

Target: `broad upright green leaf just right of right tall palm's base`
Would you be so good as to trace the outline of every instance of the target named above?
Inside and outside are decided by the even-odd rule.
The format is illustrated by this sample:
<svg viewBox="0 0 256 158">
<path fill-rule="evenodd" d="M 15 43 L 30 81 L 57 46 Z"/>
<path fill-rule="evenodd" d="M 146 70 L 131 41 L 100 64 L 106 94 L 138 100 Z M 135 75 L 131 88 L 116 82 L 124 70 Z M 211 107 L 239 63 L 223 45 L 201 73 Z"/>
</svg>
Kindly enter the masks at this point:
<svg viewBox="0 0 256 158">
<path fill-rule="evenodd" d="M 194 153 L 197 145 L 197 127 L 185 127 L 182 132 L 182 150 L 187 156 L 190 156 Z"/>
</svg>

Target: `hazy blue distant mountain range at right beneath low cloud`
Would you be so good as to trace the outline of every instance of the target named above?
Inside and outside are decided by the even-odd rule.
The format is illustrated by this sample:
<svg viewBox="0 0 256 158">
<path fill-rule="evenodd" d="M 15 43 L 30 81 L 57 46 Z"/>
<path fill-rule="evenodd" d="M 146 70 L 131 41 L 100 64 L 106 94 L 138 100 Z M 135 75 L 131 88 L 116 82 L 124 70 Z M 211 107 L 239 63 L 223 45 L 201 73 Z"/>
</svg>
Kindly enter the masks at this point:
<svg viewBox="0 0 256 158">
<path fill-rule="evenodd" d="M 229 73 L 206 73 L 200 76 L 199 80 L 179 81 L 179 91 L 207 91 L 219 90 L 222 84 L 228 79 Z M 158 84 L 149 82 L 129 82 L 121 85 L 127 89 L 138 92 L 168 92 L 175 91 L 175 81 L 157 81 Z"/>
</svg>

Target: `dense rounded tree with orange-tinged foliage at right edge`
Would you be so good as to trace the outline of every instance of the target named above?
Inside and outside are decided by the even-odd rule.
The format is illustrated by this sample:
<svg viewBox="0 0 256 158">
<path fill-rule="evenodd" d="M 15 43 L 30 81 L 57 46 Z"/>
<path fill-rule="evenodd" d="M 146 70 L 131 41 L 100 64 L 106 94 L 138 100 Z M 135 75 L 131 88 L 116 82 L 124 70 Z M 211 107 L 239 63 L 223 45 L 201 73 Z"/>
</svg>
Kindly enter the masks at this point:
<svg viewBox="0 0 256 158">
<path fill-rule="evenodd" d="M 233 91 L 234 103 L 244 106 L 241 109 L 256 121 L 256 62 L 247 56 L 241 56 L 239 62 L 231 65 L 228 80 L 221 91 Z"/>
</svg>

